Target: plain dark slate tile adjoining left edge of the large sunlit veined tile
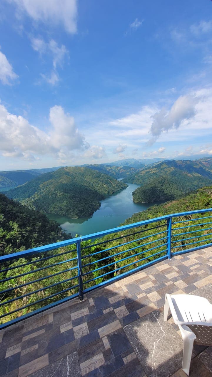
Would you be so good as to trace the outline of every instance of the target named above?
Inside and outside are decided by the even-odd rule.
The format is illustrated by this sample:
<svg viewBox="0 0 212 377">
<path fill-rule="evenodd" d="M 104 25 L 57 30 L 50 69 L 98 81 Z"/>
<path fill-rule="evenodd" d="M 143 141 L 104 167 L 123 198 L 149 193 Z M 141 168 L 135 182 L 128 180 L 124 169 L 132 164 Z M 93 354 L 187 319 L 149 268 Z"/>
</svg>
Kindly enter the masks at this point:
<svg viewBox="0 0 212 377">
<path fill-rule="evenodd" d="M 115 357 L 131 347 L 131 344 L 128 341 L 123 329 L 118 329 L 109 334 L 107 339 Z"/>
</svg>

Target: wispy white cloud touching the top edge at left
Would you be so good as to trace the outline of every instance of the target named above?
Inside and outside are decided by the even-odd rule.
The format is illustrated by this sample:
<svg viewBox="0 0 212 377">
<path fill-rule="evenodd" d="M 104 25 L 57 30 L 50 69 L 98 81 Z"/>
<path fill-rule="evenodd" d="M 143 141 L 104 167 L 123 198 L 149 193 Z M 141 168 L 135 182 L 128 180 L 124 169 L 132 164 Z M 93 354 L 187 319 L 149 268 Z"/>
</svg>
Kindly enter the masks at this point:
<svg viewBox="0 0 212 377">
<path fill-rule="evenodd" d="M 75 34 L 77 5 L 76 0 L 8 0 L 17 7 L 17 17 L 27 14 L 34 21 L 45 26 L 62 26 L 68 33 Z"/>
</svg>

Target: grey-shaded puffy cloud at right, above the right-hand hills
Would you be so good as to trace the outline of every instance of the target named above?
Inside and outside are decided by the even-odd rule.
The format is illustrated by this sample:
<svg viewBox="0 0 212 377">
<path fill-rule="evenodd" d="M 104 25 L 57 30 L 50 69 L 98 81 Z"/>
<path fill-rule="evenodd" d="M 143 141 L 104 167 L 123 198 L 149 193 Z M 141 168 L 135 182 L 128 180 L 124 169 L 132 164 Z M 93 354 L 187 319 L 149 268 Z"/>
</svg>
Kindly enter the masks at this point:
<svg viewBox="0 0 212 377">
<path fill-rule="evenodd" d="M 154 119 L 151 124 L 149 133 L 152 137 L 148 144 L 152 145 L 160 136 L 163 131 L 170 129 L 177 129 L 181 122 L 190 119 L 195 115 L 195 105 L 197 98 L 192 96 L 180 96 L 172 105 L 169 112 L 165 108 L 156 112 L 152 118 Z"/>
</svg>

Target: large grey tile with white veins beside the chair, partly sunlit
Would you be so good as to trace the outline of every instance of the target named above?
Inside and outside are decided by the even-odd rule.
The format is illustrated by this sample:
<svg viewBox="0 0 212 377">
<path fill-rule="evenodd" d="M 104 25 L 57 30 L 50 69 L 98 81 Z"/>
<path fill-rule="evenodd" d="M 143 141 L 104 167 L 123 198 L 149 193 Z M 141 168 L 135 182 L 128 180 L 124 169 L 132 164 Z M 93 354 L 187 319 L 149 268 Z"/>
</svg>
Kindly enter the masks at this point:
<svg viewBox="0 0 212 377">
<path fill-rule="evenodd" d="M 171 375 L 180 369 L 183 341 L 168 322 L 163 322 L 160 311 L 130 323 L 124 331 L 147 376 L 164 377 L 167 371 Z"/>
</svg>

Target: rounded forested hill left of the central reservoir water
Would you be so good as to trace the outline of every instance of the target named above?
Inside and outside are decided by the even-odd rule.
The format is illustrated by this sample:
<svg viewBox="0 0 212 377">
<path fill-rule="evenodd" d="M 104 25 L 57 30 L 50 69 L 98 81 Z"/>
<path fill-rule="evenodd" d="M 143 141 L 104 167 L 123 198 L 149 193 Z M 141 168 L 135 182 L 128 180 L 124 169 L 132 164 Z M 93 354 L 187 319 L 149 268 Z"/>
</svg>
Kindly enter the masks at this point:
<svg viewBox="0 0 212 377">
<path fill-rule="evenodd" d="M 126 187 L 124 182 L 96 170 L 63 167 L 10 190 L 6 195 L 44 213 L 81 218 L 93 215 L 102 199 Z"/>
</svg>

